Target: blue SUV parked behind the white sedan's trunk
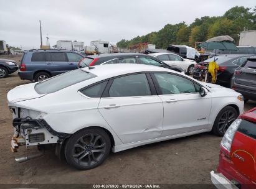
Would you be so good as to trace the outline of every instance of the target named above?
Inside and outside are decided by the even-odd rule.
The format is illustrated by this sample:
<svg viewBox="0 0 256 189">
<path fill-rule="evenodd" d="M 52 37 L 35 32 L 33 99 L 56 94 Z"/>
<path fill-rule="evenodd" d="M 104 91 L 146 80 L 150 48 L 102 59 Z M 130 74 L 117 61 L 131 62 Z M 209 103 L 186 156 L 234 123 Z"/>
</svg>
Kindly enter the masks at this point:
<svg viewBox="0 0 256 189">
<path fill-rule="evenodd" d="M 77 69 L 78 62 L 84 57 L 70 50 L 28 50 L 21 59 L 18 74 L 21 80 L 42 81 Z"/>
</svg>

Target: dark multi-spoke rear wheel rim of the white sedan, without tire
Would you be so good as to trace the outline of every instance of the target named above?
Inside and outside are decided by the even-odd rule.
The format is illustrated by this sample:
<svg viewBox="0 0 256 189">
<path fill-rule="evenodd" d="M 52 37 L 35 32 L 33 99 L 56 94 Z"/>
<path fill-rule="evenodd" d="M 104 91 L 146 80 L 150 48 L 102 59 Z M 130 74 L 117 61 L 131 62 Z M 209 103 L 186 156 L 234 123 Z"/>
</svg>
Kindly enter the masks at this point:
<svg viewBox="0 0 256 189">
<path fill-rule="evenodd" d="M 73 160 L 82 166 L 95 165 L 106 153 L 106 141 L 99 134 L 86 134 L 73 145 Z"/>
</svg>

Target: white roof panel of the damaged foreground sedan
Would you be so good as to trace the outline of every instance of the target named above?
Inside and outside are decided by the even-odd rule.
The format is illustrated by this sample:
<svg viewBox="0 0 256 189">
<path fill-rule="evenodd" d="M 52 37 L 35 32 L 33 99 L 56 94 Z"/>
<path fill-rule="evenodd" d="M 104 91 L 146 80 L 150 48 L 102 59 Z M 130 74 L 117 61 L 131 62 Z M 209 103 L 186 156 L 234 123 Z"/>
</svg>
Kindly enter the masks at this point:
<svg viewBox="0 0 256 189">
<path fill-rule="evenodd" d="M 153 65 L 144 65 L 144 64 L 134 64 L 134 63 L 120 63 L 120 64 L 112 64 L 112 65 L 98 65 L 95 67 L 81 68 L 83 71 L 89 71 L 101 79 L 111 78 L 114 76 L 125 75 L 129 73 L 138 73 L 143 71 L 168 71 L 168 72 L 176 72 L 173 70 L 169 70 L 167 68 L 156 67 Z"/>
</svg>

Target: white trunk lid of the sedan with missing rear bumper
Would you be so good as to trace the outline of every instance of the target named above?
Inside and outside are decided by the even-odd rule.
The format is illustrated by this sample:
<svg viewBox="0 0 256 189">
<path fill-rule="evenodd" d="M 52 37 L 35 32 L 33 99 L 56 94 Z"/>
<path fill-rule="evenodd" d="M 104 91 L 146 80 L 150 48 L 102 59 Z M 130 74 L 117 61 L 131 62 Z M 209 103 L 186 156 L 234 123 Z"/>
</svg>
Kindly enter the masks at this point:
<svg viewBox="0 0 256 189">
<path fill-rule="evenodd" d="M 25 101 L 28 99 L 40 98 L 42 96 L 45 96 L 45 94 L 38 94 L 35 91 L 35 88 L 34 88 L 35 85 L 36 83 L 20 85 L 20 86 L 16 86 L 16 88 L 9 91 L 7 93 L 7 100 L 8 100 L 9 106 L 19 101 Z"/>
</svg>

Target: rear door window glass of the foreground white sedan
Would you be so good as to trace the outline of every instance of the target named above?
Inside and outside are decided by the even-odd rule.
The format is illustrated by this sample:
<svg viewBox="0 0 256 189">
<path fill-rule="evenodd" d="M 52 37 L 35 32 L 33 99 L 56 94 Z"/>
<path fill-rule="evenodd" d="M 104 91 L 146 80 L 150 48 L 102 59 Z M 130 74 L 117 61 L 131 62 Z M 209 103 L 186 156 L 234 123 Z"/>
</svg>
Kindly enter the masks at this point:
<svg viewBox="0 0 256 189">
<path fill-rule="evenodd" d="M 116 78 L 109 90 L 110 97 L 149 95 L 151 95 L 151 91 L 144 73 Z"/>
</svg>

